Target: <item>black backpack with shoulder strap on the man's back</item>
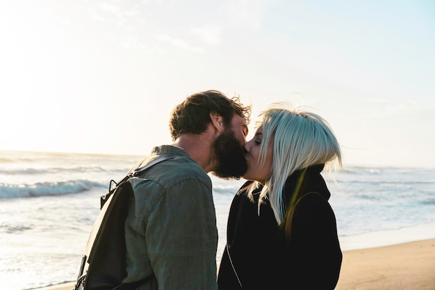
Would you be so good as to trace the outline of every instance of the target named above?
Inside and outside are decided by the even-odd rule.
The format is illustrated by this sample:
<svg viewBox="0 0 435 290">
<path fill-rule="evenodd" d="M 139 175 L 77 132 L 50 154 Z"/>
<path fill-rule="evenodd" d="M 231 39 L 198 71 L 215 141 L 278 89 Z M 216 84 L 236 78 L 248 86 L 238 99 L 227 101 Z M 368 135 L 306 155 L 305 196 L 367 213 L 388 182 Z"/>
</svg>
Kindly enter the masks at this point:
<svg viewBox="0 0 435 290">
<path fill-rule="evenodd" d="M 136 282 L 122 283 L 126 276 L 124 221 L 129 199 L 133 195 L 128 180 L 161 161 L 173 158 L 174 156 L 160 156 L 133 170 L 120 182 L 110 181 L 108 193 L 101 196 L 101 211 L 90 232 L 73 290 L 130 290 L 154 277 L 152 274 Z"/>
</svg>

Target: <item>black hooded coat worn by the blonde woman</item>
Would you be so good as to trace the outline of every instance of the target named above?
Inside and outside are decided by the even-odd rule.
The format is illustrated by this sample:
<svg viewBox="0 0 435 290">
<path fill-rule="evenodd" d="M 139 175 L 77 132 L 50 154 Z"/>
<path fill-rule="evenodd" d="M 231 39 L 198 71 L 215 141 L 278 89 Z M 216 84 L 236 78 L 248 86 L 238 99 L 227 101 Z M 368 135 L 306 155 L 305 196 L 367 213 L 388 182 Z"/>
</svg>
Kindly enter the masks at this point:
<svg viewBox="0 0 435 290">
<path fill-rule="evenodd" d="M 258 216 L 257 203 L 247 198 L 246 191 L 235 196 L 217 278 L 220 290 L 240 289 L 240 283 L 243 289 L 336 287 L 342 253 L 328 202 L 330 193 L 320 175 L 323 167 L 299 170 L 286 180 L 286 204 L 306 193 L 320 193 L 304 196 L 295 207 L 290 241 L 286 241 L 284 227 L 277 224 L 268 200 Z M 254 192 L 256 201 L 258 193 Z"/>
</svg>

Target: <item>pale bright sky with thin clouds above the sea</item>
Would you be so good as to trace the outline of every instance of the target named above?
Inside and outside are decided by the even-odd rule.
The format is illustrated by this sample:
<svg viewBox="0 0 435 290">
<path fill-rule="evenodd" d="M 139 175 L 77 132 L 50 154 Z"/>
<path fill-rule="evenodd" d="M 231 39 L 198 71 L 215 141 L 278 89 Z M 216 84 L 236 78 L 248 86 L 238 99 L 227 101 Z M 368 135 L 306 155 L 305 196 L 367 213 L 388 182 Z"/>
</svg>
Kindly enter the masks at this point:
<svg viewBox="0 0 435 290">
<path fill-rule="evenodd" d="M 325 118 L 345 166 L 434 167 L 435 2 L 0 0 L 0 150 L 149 154 L 201 90 Z"/>
</svg>

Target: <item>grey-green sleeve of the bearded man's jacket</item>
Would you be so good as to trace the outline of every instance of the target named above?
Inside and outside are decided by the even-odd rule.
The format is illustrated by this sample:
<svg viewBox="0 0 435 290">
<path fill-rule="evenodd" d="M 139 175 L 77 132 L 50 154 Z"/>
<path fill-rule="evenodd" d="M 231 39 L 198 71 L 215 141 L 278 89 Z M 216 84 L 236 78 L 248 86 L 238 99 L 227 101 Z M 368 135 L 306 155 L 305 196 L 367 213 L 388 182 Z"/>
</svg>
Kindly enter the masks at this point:
<svg viewBox="0 0 435 290">
<path fill-rule="evenodd" d="M 211 186 L 188 179 L 151 209 L 145 243 L 158 289 L 217 289 L 217 228 Z"/>
</svg>

